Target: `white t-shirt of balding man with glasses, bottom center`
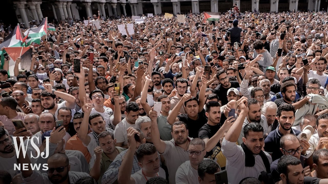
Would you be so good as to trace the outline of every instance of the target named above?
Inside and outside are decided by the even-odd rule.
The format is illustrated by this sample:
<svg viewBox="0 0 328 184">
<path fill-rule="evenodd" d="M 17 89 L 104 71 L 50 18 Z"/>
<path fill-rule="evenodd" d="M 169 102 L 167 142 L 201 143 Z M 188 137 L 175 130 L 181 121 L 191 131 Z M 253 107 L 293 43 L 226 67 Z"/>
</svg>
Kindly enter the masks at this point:
<svg viewBox="0 0 328 184">
<path fill-rule="evenodd" d="M 185 161 L 178 167 L 175 174 L 176 184 L 199 184 L 198 183 L 198 172 L 194 169 L 190 161 Z"/>
</svg>

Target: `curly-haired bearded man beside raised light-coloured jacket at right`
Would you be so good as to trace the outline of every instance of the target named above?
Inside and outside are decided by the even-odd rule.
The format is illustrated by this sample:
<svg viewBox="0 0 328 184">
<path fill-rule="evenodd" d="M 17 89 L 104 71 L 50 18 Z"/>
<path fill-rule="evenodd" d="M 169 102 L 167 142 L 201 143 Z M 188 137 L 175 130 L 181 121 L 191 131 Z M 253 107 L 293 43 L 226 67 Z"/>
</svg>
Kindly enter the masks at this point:
<svg viewBox="0 0 328 184">
<path fill-rule="evenodd" d="M 282 83 L 280 87 L 282 98 L 276 99 L 274 102 L 279 107 L 280 105 L 283 105 L 285 103 L 292 104 L 295 101 L 296 98 L 296 84 L 294 82 L 285 82 Z"/>
</svg>

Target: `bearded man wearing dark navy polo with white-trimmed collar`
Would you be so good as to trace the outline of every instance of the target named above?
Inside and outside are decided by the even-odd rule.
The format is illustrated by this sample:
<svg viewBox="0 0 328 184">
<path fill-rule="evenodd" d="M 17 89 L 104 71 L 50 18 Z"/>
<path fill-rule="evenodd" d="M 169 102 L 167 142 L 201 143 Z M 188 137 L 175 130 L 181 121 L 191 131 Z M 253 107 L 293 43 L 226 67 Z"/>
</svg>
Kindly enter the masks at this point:
<svg viewBox="0 0 328 184">
<path fill-rule="evenodd" d="M 294 134 L 297 136 L 300 133 L 300 131 L 292 129 L 292 125 L 295 120 L 295 107 L 293 105 L 280 105 L 278 107 L 277 119 L 279 126 L 276 128 L 276 130 L 270 132 L 269 135 L 264 139 L 264 150 L 272 156 L 273 160 L 276 160 L 282 156 L 280 151 L 280 138 L 285 134 Z M 303 147 L 302 153 L 305 154 L 306 150 L 307 148 Z"/>
</svg>

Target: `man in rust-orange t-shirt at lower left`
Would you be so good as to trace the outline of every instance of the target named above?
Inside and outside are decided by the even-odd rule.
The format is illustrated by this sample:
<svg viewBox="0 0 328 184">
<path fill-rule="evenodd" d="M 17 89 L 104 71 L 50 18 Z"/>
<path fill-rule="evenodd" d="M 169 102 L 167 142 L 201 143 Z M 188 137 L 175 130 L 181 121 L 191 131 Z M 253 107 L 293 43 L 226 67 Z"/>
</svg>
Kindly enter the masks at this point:
<svg viewBox="0 0 328 184">
<path fill-rule="evenodd" d="M 65 149 L 67 150 L 78 150 L 83 153 L 87 162 L 90 162 L 91 155 L 88 148 L 83 145 L 82 140 L 79 138 L 79 130 L 83 120 L 82 113 L 75 113 L 73 116 L 74 130 L 77 132 L 74 136 L 68 139 Z"/>
</svg>

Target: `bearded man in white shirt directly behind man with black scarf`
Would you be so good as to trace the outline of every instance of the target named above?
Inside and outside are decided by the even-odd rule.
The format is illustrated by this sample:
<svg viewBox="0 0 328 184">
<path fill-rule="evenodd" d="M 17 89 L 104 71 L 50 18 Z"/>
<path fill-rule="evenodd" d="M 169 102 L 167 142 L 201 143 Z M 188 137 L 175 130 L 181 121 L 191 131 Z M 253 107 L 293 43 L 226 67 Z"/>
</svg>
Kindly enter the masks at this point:
<svg viewBox="0 0 328 184">
<path fill-rule="evenodd" d="M 267 120 L 266 120 L 265 116 L 262 114 L 262 109 L 261 109 L 260 103 L 256 99 L 248 99 L 247 104 L 248 104 L 249 111 L 248 111 L 247 116 L 244 120 L 242 129 L 249 123 L 252 123 L 252 122 L 259 123 L 263 127 L 263 135 L 266 135 L 268 133 L 267 132 L 268 126 L 266 125 Z M 239 135 L 239 138 L 238 138 L 238 145 L 242 144 L 242 142 L 243 142 L 242 138 L 243 137 L 244 137 L 244 132 L 241 131 L 240 135 Z"/>
</svg>

